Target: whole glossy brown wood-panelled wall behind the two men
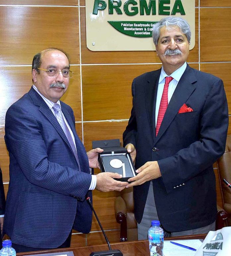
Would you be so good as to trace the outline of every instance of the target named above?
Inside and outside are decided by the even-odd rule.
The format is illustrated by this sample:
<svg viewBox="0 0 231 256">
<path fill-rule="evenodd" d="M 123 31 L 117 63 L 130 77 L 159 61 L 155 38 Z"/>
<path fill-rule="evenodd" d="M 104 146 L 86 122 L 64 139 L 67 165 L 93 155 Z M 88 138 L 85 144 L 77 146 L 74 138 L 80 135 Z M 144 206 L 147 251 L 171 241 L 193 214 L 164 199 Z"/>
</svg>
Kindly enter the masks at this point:
<svg viewBox="0 0 231 256">
<path fill-rule="evenodd" d="M 188 59 L 191 67 L 223 79 L 229 110 L 230 17 L 229 0 L 196 0 L 195 47 Z M 9 157 L 4 143 L 5 113 L 30 89 L 31 63 L 37 52 L 58 47 L 69 53 L 75 76 L 62 100 L 73 108 L 76 130 L 87 150 L 91 149 L 92 140 L 122 141 L 131 110 L 133 78 L 161 66 L 155 52 L 91 52 L 86 47 L 85 29 L 84 0 L 0 0 L 0 164 L 6 192 Z M 216 164 L 214 170 L 217 174 Z M 217 193 L 221 204 L 219 180 Z M 119 241 L 119 224 L 114 215 L 114 200 L 119 193 L 94 191 L 93 194 L 96 211 L 110 241 Z M 99 230 L 94 218 L 90 234 L 74 231 L 72 246 L 105 243 Z"/>
</svg>

